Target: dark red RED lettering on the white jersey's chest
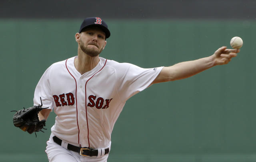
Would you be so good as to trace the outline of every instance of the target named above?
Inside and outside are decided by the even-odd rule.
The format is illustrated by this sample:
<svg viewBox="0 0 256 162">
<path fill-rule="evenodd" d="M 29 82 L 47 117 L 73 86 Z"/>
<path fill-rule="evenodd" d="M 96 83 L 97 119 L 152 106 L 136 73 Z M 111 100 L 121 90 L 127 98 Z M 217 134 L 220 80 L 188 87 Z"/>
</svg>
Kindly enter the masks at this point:
<svg viewBox="0 0 256 162">
<path fill-rule="evenodd" d="M 60 94 L 59 96 L 53 95 L 52 97 L 54 99 L 56 107 L 61 106 L 61 105 L 62 106 L 65 106 L 65 105 L 70 106 L 70 105 L 74 105 L 74 103 L 75 103 L 75 98 L 74 98 L 74 95 L 72 93 L 67 93 L 66 94 L 67 100 L 65 100 L 65 94 Z M 60 102 L 59 102 L 59 99 L 60 99 Z"/>
</svg>

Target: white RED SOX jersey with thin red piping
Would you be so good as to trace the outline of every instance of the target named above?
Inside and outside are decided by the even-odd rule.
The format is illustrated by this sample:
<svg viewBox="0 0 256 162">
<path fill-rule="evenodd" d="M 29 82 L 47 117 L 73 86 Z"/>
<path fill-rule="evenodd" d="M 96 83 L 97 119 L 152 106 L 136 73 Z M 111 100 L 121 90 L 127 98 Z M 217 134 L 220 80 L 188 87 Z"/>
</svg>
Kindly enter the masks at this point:
<svg viewBox="0 0 256 162">
<path fill-rule="evenodd" d="M 77 57 L 77 56 L 76 56 Z M 105 148 L 126 100 L 147 88 L 163 67 L 140 68 L 100 57 L 98 65 L 80 74 L 72 57 L 52 64 L 34 93 L 34 105 L 56 113 L 52 133 L 70 144 Z"/>
</svg>

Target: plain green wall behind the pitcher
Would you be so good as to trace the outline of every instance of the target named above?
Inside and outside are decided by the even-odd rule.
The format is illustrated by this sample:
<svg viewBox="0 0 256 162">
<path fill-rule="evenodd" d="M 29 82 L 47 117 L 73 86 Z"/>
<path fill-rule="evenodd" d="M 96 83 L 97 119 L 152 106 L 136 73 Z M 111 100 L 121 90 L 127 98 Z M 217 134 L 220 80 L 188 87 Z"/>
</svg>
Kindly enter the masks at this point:
<svg viewBox="0 0 256 162">
<path fill-rule="evenodd" d="M 82 20 L 0 19 L 1 162 L 46 162 L 54 124 L 30 135 L 14 127 L 14 112 L 33 105 L 34 88 L 52 63 L 77 55 Z M 238 57 L 196 76 L 155 84 L 136 94 L 116 122 L 109 162 L 256 161 L 256 23 L 206 20 L 106 20 L 100 54 L 144 68 L 208 57 L 242 37 Z"/>
</svg>

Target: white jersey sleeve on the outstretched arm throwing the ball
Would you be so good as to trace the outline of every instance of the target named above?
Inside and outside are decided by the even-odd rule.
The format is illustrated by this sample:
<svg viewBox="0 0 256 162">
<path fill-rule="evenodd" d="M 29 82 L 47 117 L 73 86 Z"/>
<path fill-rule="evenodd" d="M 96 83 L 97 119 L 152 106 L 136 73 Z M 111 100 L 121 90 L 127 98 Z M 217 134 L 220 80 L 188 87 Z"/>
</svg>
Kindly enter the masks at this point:
<svg viewBox="0 0 256 162">
<path fill-rule="evenodd" d="M 117 70 L 117 90 L 123 102 L 146 89 L 155 80 L 163 67 L 141 68 L 134 64 L 122 63 Z"/>
</svg>

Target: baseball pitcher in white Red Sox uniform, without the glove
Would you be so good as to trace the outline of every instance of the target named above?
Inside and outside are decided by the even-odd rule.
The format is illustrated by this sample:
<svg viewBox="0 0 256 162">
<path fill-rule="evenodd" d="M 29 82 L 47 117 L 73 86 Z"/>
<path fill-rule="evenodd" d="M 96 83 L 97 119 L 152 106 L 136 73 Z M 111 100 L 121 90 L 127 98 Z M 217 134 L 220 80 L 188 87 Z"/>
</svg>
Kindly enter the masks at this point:
<svg viewBox="0 0 256 162">
<path fill-rule="evenodd" d="M 75 35 L 78 55 L 52 64 L 39 80 L 34 105 L 40 120 L 56 113 L 47 141 L 50 162 L 106 162 L 111 133 L 126 100 L 155 83 L 188 78 L 227 64 L 239 50 L 221 47 L 210 57 L 169 67 L 140 68 L 99 57 L 110 37 L 101 18 L 86 18 Z"/>
</svg>

